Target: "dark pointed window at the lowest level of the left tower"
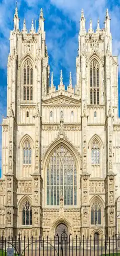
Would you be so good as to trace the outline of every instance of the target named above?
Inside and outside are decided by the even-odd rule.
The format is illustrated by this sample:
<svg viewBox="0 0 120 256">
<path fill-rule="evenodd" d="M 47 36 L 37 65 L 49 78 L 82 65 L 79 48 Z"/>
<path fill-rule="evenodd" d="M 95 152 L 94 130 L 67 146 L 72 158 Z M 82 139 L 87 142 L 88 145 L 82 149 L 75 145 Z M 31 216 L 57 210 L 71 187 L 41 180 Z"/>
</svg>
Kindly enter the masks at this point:
<svg viewBox="0 0 120 256">
<path fill-rule="evenodd" d="M 32 225 L 32 207 L 26 200 L 22 207 L 22 225 Z"/>
</svg>

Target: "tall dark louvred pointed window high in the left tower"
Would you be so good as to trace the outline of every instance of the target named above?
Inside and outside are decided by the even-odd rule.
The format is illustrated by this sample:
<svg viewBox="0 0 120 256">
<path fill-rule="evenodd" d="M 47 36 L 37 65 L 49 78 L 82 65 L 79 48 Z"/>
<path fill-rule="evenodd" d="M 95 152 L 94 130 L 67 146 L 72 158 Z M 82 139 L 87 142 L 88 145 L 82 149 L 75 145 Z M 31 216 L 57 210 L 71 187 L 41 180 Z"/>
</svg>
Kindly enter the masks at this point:
<svg viewBox="0 0 120 256">
<path fill-rule="evenodd" d="M 32 100 L 33 85 L 33 67 L 29 59 L 25 61 L 23 66 L 23 100 Z"/>
</svg>

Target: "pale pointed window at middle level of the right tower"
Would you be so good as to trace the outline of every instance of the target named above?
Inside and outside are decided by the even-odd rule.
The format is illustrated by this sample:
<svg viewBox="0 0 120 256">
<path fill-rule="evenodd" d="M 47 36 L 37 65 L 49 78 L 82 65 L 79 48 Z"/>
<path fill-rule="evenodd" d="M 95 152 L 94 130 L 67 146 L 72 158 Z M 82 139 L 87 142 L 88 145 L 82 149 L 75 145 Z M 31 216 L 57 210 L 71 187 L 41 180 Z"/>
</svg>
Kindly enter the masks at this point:
<svg viewBox="0 0 120 256">
<path fill-rule="evenodd" d="M 99 143 L 95 139 L 91 147 L 91 164 L 99 164 L 99 163 L 100 163 Z"/>
</svg>

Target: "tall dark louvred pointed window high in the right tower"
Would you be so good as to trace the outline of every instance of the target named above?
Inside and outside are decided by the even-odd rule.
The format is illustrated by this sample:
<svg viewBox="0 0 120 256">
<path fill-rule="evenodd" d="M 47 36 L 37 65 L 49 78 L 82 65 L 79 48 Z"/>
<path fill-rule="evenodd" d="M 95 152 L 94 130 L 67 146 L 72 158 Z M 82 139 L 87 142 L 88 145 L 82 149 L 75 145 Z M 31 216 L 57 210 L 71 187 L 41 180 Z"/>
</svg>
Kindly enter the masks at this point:
<svg viewBox="0 0 120 256">
<path fill-rule="evenodd" d="M 90 104 L 99 104 L 99 64 L 96 59 L 90 63 Z"/>
</svg>

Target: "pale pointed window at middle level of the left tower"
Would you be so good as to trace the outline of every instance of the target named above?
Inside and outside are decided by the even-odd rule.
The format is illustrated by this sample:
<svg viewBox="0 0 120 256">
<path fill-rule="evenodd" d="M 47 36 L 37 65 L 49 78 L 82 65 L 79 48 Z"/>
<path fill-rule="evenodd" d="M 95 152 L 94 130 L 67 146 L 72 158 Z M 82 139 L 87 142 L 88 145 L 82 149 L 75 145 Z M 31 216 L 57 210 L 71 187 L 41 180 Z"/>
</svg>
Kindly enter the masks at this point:
<svg viewBox="0 0 120 256">
<path fill-rule="evenodd" d="M 24 142 L 23 146 L 23 164 L 31 164 L 31 146 L 28 140 Z"/>
</svg>

